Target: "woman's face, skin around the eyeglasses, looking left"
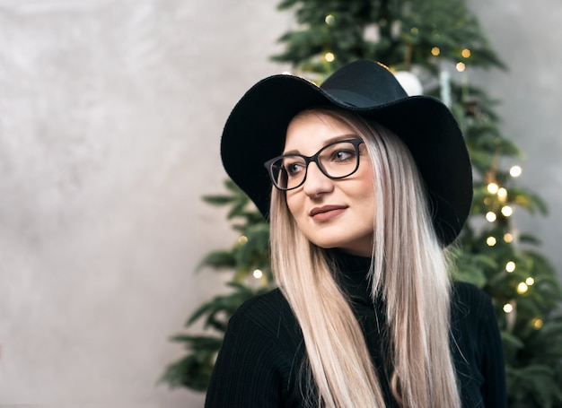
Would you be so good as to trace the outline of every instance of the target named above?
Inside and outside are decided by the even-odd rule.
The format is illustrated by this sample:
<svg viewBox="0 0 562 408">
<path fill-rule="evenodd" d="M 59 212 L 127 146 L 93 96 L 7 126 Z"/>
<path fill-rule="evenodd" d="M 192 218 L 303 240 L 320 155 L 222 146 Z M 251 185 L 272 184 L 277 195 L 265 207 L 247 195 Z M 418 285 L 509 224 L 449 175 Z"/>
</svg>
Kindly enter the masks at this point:
<svg viewBox="0 0 562 408">
<path fill-rule="evenodd" d="M 326 114 L 307 112 L 289 124 L 284 154 L 312 156 L 335 139 L 358 137 L 350 127 Z M 373 169 L 364 143 L 359 145 L 359 152 L 359 168 L 347 178 L 330 179 L 311 162 L 303 186 L 288 190 L 286 202 L 299 229 L 312 243 L 371 256 Z"/>
</svg>

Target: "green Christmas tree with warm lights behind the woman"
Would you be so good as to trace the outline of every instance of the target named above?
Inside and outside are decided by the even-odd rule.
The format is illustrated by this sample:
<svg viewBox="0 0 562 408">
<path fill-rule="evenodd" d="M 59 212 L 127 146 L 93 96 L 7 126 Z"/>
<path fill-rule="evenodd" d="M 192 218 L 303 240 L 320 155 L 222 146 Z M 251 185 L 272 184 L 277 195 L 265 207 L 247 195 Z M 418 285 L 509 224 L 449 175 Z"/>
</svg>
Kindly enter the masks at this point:
<svg viewBox="0 0 562 408">
<path fill-rule="evenodd" d="M 503 69 L 464 0 L 285 0 L 296 30 L 281 41 L 274 60 L 290 63 L 294 74 L 315 82 L 356 59 L 382 62 L 405 88 L 443 100 L 459 121 L 474 168 L 470 220 L 455 247 L 454 279 L 472 282 L 496 305 L 505 348 L 509 406 L 562 406 L 562 291 L 538 239 L 518 231 L 512 214 L 519 208 L 546 213 L 540 197 L 517 187 L 519 148 L 502 134 L 495 102 L 469 80 L 475 68 Z M 226 182 L 227 193 L 205 197 L 229 205 L 228 218 L 240 239 L 232 248 L 206 256 L 202 266 L 233 271 L 230 293 L 210 299 L 187 326 L 203 321 L 214 334 L 180 334 L 184 359 L 167 369 L 171 386 L 205 390 L 228 318 L 244 299 L 268 291 L 268 224 L 248 198 Z M 559 309 L 558 309 L 559 311 Z"/>
</svg>

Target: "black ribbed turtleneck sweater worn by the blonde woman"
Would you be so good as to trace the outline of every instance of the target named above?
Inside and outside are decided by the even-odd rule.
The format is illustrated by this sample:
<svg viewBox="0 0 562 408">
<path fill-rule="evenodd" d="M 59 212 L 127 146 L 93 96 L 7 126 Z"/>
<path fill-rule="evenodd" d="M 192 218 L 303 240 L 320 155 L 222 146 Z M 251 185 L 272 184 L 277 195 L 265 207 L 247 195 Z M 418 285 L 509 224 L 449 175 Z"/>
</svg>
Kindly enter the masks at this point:
<svg viewBox="0 0 562 408">
<path fill-rule="evenodd" d="M 389 385 L 384 306 L 373 303 L 366 282 L 370 259 L 338 253 L 336 262 L 378 370 L 386 406 L 398 407 Z M 504 408 L 504 357 L 490 299 L 470 284 L 455 283 L 451 309 L 452 356 L 463 408 Z M 229 322 L 205 406 L 303 407 L 303 395 L 315 395 L 303 375 L 304 360 L 303 334 L 283 294 L 274 290 L 250 299 Z"/>
</svg>

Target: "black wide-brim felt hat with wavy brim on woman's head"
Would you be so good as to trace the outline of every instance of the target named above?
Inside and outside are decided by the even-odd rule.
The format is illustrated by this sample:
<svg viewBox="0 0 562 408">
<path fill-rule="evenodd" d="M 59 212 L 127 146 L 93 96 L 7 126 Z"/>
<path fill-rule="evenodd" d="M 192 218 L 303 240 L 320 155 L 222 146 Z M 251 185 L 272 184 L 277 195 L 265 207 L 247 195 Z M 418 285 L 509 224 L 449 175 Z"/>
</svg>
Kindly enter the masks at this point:
<svg viewBox="0 0 562 408">
<path fill-rule="evenodd" d="M 424 179 L 435 232 L 452 243 L 472 201 L 466 144 L 451 111 L 440 100 L 408 96 L 383 65 L 360 60 L 316 86 L 278 74 L 256 83 L 228 117 L 221 141 L 224 169 L 268 218 L 271 180 L 264 162 L 282 154 L 291 119 L 303 109 L 331 106 L 372 119 L 406 143 Z"/>
</svg>

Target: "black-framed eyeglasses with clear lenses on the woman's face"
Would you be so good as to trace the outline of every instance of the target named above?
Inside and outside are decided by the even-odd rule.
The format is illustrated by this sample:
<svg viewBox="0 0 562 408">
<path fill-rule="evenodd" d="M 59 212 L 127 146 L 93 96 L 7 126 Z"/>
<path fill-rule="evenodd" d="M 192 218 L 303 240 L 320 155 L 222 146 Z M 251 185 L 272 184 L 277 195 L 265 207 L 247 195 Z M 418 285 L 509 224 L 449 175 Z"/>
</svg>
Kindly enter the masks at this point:
<svg viewBox="0 0 562 408">
<path fill-rule="evenodd" d="M 279 190 L 293 190 L 303 186 L 308 165 L 312 161 L 327 178 L 347 178 L 359 168 L 359 144 L 361 143 L 363 143 L 361 139 L 329 143 L 313 156 L 284 154 L 266 161 L 264 166 L 269 171 L 273 185 Z"/>
</svg>

